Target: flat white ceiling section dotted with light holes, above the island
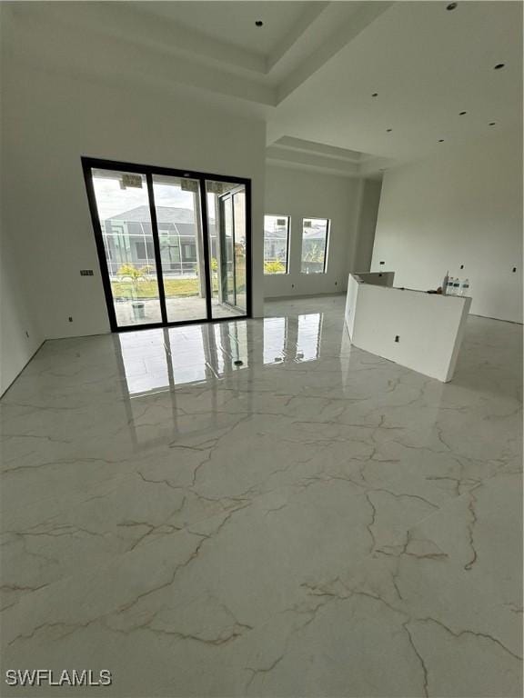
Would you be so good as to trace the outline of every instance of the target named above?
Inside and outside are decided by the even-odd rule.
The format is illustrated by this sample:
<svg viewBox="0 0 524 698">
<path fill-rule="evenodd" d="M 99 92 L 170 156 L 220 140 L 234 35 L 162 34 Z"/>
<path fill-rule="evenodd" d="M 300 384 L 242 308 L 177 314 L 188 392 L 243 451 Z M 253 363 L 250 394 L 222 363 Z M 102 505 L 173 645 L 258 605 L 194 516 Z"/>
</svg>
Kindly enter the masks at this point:
<svg viewBox="0 0 524 698">
<path fill-rule="evenodd" d="M 514 125 L 521 37 L 520 3 L 397 3 L 287 95 L 269 137 L 406 160 Z"/>
</svg>

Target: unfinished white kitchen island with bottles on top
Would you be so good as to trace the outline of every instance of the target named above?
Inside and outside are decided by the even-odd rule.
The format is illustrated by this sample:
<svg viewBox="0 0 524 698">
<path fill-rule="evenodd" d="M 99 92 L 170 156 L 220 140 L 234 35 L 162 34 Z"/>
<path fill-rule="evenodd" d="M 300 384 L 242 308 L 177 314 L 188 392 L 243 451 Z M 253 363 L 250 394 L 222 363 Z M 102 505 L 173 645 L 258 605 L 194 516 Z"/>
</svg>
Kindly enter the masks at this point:
<svg viewBox="0 0 524 698">
<path fill-rule="evenodd" d="M 349 274 L 346 325 L 351 343 L 448 383 L 471 298 L 396 288 L 394 275 Z"/>
</svg>

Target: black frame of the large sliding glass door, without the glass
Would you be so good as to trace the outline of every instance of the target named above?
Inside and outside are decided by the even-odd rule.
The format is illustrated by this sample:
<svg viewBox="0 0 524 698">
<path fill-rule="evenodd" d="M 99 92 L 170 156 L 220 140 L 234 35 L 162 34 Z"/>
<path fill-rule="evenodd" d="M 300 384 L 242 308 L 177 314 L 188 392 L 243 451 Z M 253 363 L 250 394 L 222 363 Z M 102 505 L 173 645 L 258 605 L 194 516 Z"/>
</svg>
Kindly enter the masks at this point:
<svg viewBox="0 0 524 698">
<path fill-rule="evenodd" d="M 102 160 L 96 157 L 82 156 L 82 170 L 84 172 L 84 181 L 86 182 L 87 203 L 89 204 L 89 212 L 93 230 L 95 232 L 96 252 L 98 254 L 98 264 L 100 265 L 100 274 L 102 275 L 102 284 L 104 285 L 104 294 L 106 295 L 107 314 L 109 316 L 109 324 L 112 332 L 132 332 L 134 330 L 153 329 L 156 327 L 175 327 L 181 324 L 202 324 L 202 323 L 221 323 L 230 322 L 231 320 L 245 320 L 252 316 L 252 294 L 251 294 L 251 278 L 252 278 L 252 259 L 251 259 L 251 180 L 244 177 L 233 177 L 229 175 L 213 175 L 205 172 L 195 172 L 194 170 L 179 170 L 171 167 L 157 167 L 156 165 L 136 165 L 135 163 L 123 163 L 116 160 Z M 96 206 L 95 187 L 93 186 L 92 169 L 100 170 L 116 170 L 117 172 L 128 172 L 137 175 L 146 175 L 147 198 L 149 202 L 149 213 L 151 218 L 151 230 L 153 234 L 153 244 L 155 249 L 156 259 L 156 278 L 158 283 L 158 300 L 160 304 L 160 314 L 162 322 L 160 323 L 145 323 L 145 324 L 130 324 L 120 327 L 116 322 L 115 305 L 113 301 L 113 293 L 111 290 L 111 281 L 106 261 L 106 249 L 104 247 L 104 237 L 102 235 L 102 226 L 98 216 Z M 158 236 L 158 222 L 156 219 L 155 196 L 153 193 L 153 175 L 166 175 L 173 177 L 187 177 L 196 179 L 199 183 L 200 191 L 200 214 L 202 216 L 202 235 L 203 235 L 203 251 L 204 251 L 204 267 L 205 267 L 205 284 L 206 284 L 206 318 L 197 320 L 182 320 L 177 322 L 168 322 L 166 314 L 166 294 L 164 291 L 162 262 L 160 256 L 160 241 Z M 234 317 L 212 317 L 211 307 L 211 261 L 209 249 L 209 230 L 207 221 L 207 190 L 206 182 L 227 182 L 230 184 L 244 185 L 246 192 L 246 314 L 237 315 Z"/>
</svg>

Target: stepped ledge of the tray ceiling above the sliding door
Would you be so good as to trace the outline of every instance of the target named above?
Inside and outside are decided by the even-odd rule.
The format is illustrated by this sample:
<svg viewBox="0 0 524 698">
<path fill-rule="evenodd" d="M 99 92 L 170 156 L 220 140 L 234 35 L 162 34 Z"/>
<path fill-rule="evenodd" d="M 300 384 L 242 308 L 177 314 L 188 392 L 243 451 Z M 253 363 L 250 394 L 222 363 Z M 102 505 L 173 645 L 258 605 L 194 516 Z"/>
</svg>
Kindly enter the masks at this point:
<svg viewBox="0 0 524 698">
<path fill-rule="evenodd" d="M 162 65 L 162 74 L 170 68 L 175 83 L 277 106 L 391 4 L 311 3 L 269 57 L 176 20 L 164 20 L 135 3 L 20 3 L 10 7 L 25 38 L 29 38 L 27 33 L 32 35 L 27 45 L 38 44 L 39 39 L 42 45 L 45 39 L 41 37 L 46 34 L 56 37 L 59 44 L 67 44 L 65 37 L 74 35 L 79 45 L 93 44 L 89 55 L 84 55 L 86 74 L 99 63 L 97 51 L 112 56 L 120 52 L 126 55 L 130 70 L 142 72 L 143 64 L 152 69 Z M 43 56 L 48 53 L 44 50 Z M 81 51 L 76 52 L 74 46 L 74 63 L 76 53 Z"/>
</svg>

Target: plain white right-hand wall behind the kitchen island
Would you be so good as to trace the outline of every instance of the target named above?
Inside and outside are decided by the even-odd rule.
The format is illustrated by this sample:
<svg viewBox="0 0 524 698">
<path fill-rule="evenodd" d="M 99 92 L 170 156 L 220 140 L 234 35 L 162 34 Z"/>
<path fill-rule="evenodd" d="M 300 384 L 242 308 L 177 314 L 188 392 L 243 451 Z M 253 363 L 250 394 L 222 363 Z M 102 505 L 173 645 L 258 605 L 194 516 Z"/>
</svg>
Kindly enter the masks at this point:
<svg viewBox="0 0 524 698">
<path fill-rule="evenodd" d="M 522 322 L 520 129 L 444 145 L 386 173 L 371 268 L 418 289 L 437 287 L 449 269 L 469 278 L 471 313 Z"/>
</svg>

